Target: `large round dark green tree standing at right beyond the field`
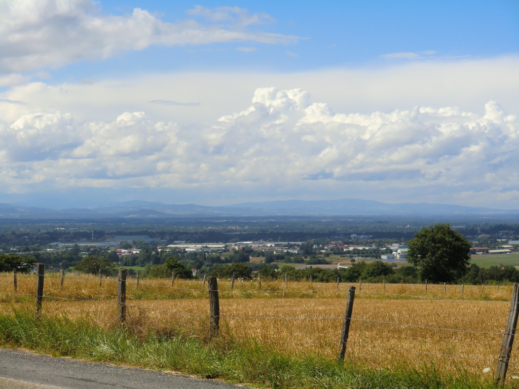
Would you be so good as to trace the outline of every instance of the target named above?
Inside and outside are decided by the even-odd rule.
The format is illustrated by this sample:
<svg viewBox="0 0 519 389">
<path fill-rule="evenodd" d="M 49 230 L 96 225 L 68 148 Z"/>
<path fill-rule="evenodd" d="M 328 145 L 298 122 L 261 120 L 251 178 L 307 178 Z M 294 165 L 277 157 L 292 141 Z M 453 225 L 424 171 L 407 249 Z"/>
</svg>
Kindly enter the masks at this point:
<svg viewBox="0 0 519 389">
<path fill-rule="evenodd" d="M 407 244 L 407 261 L 422 281 L 455 281 L 469 268 L 470 243 L 448 223 L 422 228 Z"/>
</svg>

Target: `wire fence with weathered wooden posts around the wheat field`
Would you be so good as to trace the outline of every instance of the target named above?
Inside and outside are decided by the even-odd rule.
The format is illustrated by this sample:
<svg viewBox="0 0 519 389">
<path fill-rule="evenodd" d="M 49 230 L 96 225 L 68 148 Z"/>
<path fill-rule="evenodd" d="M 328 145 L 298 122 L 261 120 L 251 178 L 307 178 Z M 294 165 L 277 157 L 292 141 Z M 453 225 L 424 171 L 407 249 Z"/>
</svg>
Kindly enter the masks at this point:
<svg viewBox="0 0 519 389">
<path fill-rule="evenodd" d="M 0 291 L 0 294 L 3 296 L 16 296 L 16 297 L 31 297 L 35 299 L 35 313 L 36 315 L 39 315 L 42 310 L 42 304 L 43 300 L 50 299 L 50 300 L 58 300 L 58 301 L 77 301 L 77 302 L 108 302 L 108 303 L 116 303 L 117 304 L 117 318 L 120 323 L 125 323 L 127 320 L 127 307 L 130 308 L 137 308 L 139 310 L 149 310 L 149 311 L 159 311 L 159 312 L 168 312 L 173 313 L 177 315 L 185 315 L 190 317 L 196 317 L 201 320 L 208 320 L 209 319 L 209 329 L 210 329 L 210 337 L 213 338 L 218 335 L 218 332 L 220 330 L 220 319 L 243 319 L 243 320 L 277 320 L 277 321 L 342 321 L 342 332 L 339 340 L 336 341 L 312 341 L 312 340 L 274 340 L 269 339 L 266 340 L 266 342 L 271 343 L 308 343 L 308 344 L 328 344 L 328 345 L 338 345 L 339 353 L 337 356 L 337 361 L 342 362 L 345 358 L 345 352 L 347 345 L 352 346 L 360 346 L 362 348 L 368 348 L 368 349 L 380 349 L 380 350 L 386 350 L 386 351 L 394 351 L 398 353 L 414 353 L 414 354 L 423 354 L 423 355 L 434 355 L 434 356 L 443 356 L 443 357 L 450 357 L 450 358 L 463 358 L 463 359 L 474 359 L 474 360 L 487 360 L 491 362 L 497 362 L 497 368 L 496 368 L 496 375 L 495 380 L 496 383 L 503 382 L 506 378 L 507 370 L 509 364 L 519 364 L 519 362 L 511 361 L 511 351 L 512 351 L 512 345 L 514 341 L 514 335 L 515 335 L 515 329 L 517 326 L 517 318 L 519 315 L 519 285 L 514 284 L 513 285 L 513 291 L 512 291 L 512 299 L 510 304 L 510 311 L 509 311 L 509 317 L 506 329 L 504 332 L 493 332 L 493 331 L 477 331 L 477 330 L 469 330 L 469 329 L 460 329 L 460 328 L 442 328 L 439 326 L 423 326 L 423 325 L 416 325 L 412 323 L 400 323 L 400 322 L 394 322 L 394 321 L 383 321 L 383 320 L 376 320 L 376 319 L 368 319 L 368 318 L 358 318 L 358 317 L 352 317 L 352 308 L 353 308 L 353 302 L 354 297 L 356 294 L 356 287 L 349 286 L 348 290 L 339 289 L 337 282 L 336 289 L 321 289 L 321 290 L 311 290 L 311 293 L 330 293 L 331 291 L 338 291 L 341 293 L 347 292 L 347 302 L 346 302 L 346 312 L 344 316 L 247 316 L 247 315 L 227 315 L 227 314 L 221 314 L 220 313 L 220 305 L 219 305 L 219 294 L 223 294 L 224 296 L 226 294 L 278 294 L 278 293 L 288 293 L 288 287 L 285 290 L 233 290 L 234 287 L 234 281 L 235 281 L 235 274 L 233 274 L 233 279 L 231 280 L 231 287 L 229 290 L 218 290 L 217 287 L 217 279 L 216 277 L 208 277 L 207 283 L 208 288 L 205 289 L 204 285 L 206 283 L 206 277 L 204 276 L 204 280 L 202 282 L 201 288 L 185 288 L 185 287 L 178 287 L 173 286 L 175 275 L 173 273 L 172 275 L 172 281 L 171 286 L 168 285 L 160 285 L 155 283 L 148 283 L 148 282 L 140 282 L 139 280 L 139 274 L 137 275 L 136 279 L 136 287 L 138 288 L 139 285 L 146 285 L 146 286 L 153 286 L 158 288 L 167 288 L 167 289 L 175 289 L 175 290 L 182 290 L 182 291 L 193 291 L 197 294 L 203 293 L 204 296 L 209 296 L 209 313 L 208 314 L 200 314 L 197 312 L 187 312 L 187 311 L 179 311 L 179 310 L 171 310 L 166 308 L 160 308 L 160 307 L 148 307 L 146 305 L 140 305 L 135 303 L 127 303 L 126 301 L 126 278 L 127 278 L 127 271 L 126 269 L 119 269 L 117 279 L 114 277 L 112 279 L 104 279 L 103 281 L 117 282 L 117 300 L 114 301 L 113 299 L 86 299 L 86 298 L 67 298 L 67 297 L 60 297 L 60 296 L 53 296 L 53 295 L 45 295 L 44 294 L 44 278 L 45 278 L 45 271 L 44 271 L 44 265 L 39 264 L 37 266 L 36 271 L 36 293 L 34 294 L 20 294 L 17 293 L 17 277 L 20 276 L 32 276 L 34 277 L 34 274 L 17 274 L 15 271 L 13 273 L 13 289 L 15 293 L 7 293 L 4 291 Z M 65 279 L 81 279 L 81 280 L 95 280 L 92 277 L 81 277 L 77 275 L 65 275 L 65 273 L 62 271 L 60 275 L 54 275 L 54 274 L 47 274 L 46 277 L 59 277 L 60 278 L 60 288 L 63 287 L 63 283 Z M 101 286 L 101 276 L 100 276 L 100 286 Z M 261 285 L 261 277 L 258 280 L 259 285 Z M 285 278 L 285 284 L 288 286 L 288 283 L 286 283 Z M 495 301 L 495 300 L 467 300 L 467 299 L 458 299 L 458 298 L 440 298 L 440 297 L 434 297 L 434 296 L 422 296 L 422 295 L 407 295 L 407 294 L 396 294 L 396 293 L 385 293 L 379 292 L 379 291 L 370 291 L 370 290 L 361 290 L 362 284 L 360 284 L 358 293 L 363 294 L 373 294 L 373 295 L 386 295 L 386 296 L 398 296 L 398 297 L 404 297 L 404 298 L 414 298 L 414 299 L 430 299 L 430 300 L 448 300 L 448 301 L 470 301 L 470 302 L 503 302 L 503 301 Z M 261 286 L 260 286 L 261 287 Z M 427 286 L 426 286 L 427 287 Z M 445 286 L 444 286 L 445 287 Z M 384 284 L 384 290 L 385 290 L 385 284 Z M 462 289 L 463 290 L 463 286 Z M 291 291 L 292 294 L 305 294 L 308 293 L 308 290 L 294 290 Z M 482 288 L 483 292 L 483 288 Z M 376 344 L 368 344 L 368 343 L 358 343 L 358 342 L 348 342 L 349 338 L 349 327 L 351 322 L 363 322 L 363 323 L 376 323 L 376 324 L 385 324 L 390 326 L 398 326 L 398 327 L 408 327 L 408 328 L 419 328 L 419 329 L 427 329 L 427 330 L 434 330 L 434 331 L 445 331 L 445 332 L 460 332 L 463 334 L 478 334 L 478 335 L 491 335 L 491 336 L 502 336 L 502 345 L 499 352 L 499 356 L 497 358 L 491 358 L 491 357 L 483 357 L 483 356 L 475 356 L 475 355 L 463 355 L 463 354 L 454 354 L 454 353 L 441 353 L 441 352 L 433 352 L 433 351 L 424 351 L 424 350 L 413 350 L 413 349 L 403 349 L 403 348 L 394 348 L 394 347 L 388 347 L 383 345 L 376 345 Z M 246 340 L 246 339 L 235 339 L 235 340 Z"/>
</svg>

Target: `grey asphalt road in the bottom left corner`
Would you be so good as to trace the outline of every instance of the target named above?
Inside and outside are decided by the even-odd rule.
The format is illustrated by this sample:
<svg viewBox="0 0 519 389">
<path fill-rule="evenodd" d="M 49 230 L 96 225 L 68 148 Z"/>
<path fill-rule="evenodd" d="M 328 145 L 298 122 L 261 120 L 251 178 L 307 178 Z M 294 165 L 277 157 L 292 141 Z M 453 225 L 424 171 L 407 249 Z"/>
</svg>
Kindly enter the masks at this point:
<svg viewBox="0 0 519 389">
<path fill-rule="evenodd" d="M 0 349 L 0 389 L 237 389 L 214 380 Z"/>
</svg>

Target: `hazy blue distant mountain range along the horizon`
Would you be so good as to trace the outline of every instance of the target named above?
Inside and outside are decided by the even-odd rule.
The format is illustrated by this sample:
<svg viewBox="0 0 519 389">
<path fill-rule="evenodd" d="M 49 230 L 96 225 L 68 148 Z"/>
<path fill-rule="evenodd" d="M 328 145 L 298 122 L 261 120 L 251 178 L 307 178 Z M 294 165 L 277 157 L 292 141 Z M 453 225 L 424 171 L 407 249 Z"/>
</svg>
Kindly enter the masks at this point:
<svg viewBox="0 0 519 389">
<path fill-rule="evenodd" d="M 431 203 L 388 204 L 372 200 L 288 200 L 227 206 L 127 201 L 101 207 L 53 210 L 0 203 L 0 218 L 159 218 L 198 216 L 519 216 L 519 210 L 499 210 Z"/>
</svg>

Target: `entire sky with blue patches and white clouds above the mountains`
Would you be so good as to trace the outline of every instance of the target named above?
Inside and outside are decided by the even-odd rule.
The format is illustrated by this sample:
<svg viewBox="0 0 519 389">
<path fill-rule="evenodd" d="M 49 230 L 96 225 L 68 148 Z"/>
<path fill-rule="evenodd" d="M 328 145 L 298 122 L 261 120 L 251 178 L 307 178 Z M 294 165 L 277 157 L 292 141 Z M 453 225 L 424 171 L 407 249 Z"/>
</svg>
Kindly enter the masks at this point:
<svg viewBox="0 0 519 389">
<path fill-rule="evenodd" d="M 519 207 L 519 3 L 0 3 L 0 202 Z"/>
</svg>

